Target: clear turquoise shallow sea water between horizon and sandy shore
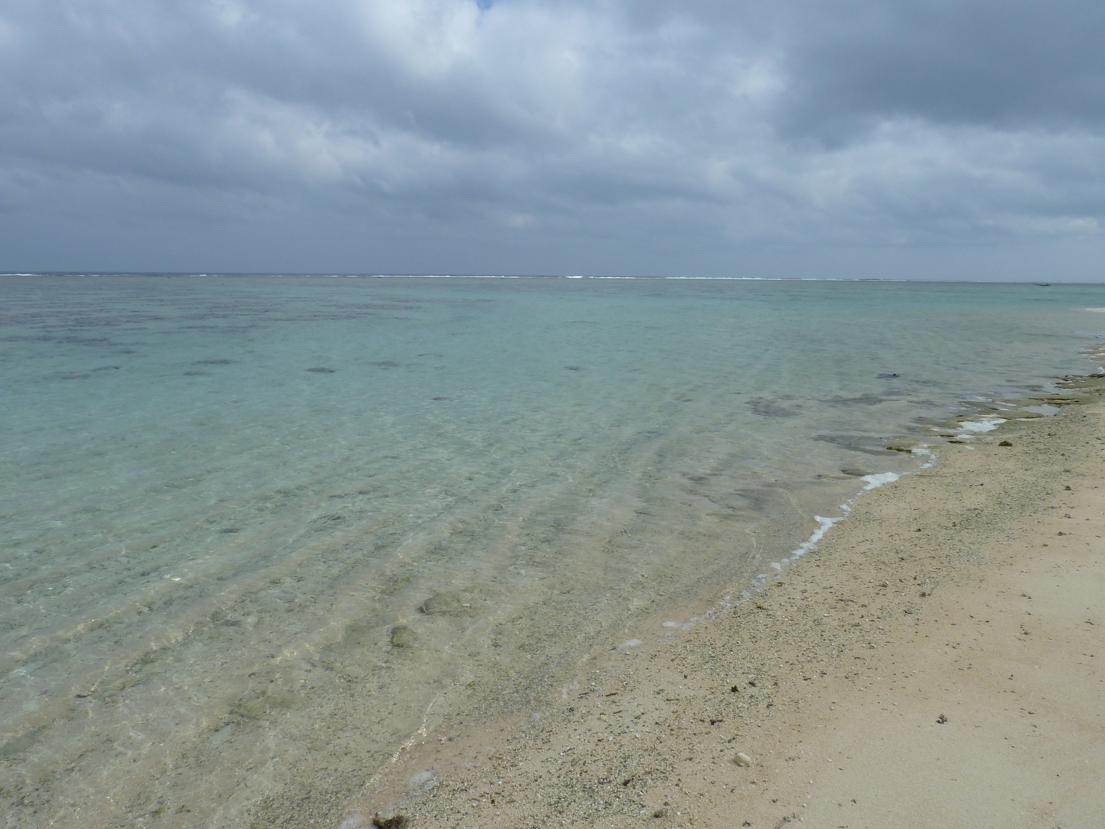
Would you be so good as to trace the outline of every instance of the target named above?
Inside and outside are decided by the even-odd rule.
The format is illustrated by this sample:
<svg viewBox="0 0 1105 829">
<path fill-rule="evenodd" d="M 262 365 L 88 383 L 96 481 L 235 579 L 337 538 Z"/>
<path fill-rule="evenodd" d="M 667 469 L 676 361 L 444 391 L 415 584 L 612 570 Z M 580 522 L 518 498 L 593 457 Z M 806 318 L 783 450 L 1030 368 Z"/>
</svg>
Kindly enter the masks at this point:
<svg viewBox="0 0 1105 829">
<path fill-rule="evenodd" d="M 739 591 L 918 465 L 887 441 L 1096 370 L 1105 332 L 1087 285 L 0 288 L 4 826 L 351 794 Z"/>
</svg>

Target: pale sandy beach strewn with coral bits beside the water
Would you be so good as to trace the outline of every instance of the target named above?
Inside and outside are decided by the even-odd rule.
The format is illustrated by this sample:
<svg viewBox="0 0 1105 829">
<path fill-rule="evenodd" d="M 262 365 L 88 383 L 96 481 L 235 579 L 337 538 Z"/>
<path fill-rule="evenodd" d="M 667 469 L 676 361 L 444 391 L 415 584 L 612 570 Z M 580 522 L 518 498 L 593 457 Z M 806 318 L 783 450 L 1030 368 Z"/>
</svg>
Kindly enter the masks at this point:
<svg viewBox="0 0 1105 829">
<path fill-rule="evenodd" d="M 1105 405 L 1083 393 L 938 447 L 751 600 L 624 631 L 642 644 L 544 709 L 425 735 L 343 829 L 1105 826 Z"/>
</svg>

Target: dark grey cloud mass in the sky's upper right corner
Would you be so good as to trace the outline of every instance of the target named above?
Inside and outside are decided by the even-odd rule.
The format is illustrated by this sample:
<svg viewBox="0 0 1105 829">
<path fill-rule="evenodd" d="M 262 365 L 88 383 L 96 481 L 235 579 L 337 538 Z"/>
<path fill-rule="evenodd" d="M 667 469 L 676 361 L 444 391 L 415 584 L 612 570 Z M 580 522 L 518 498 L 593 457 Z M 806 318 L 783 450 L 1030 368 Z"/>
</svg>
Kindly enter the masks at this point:
<svg viewBox="0 0 1105 829">
<path fill-rule="evenodd" d="M 1099 127 L 1105 6 L 1086 0 L 810 4 L 788 42 L 787 114 L 832 132 L 911 115 L 999 128 Z"/>
</svg>

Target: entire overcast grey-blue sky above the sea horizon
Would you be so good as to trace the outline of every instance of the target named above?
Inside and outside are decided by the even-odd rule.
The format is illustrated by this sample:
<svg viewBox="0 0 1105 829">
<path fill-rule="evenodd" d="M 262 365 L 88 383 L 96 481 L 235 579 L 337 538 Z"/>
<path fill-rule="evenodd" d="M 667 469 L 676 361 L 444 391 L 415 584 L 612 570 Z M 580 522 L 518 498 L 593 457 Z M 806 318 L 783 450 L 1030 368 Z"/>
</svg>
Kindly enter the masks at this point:
<svg viewBox="0 0 1105 829">
<path fill-rule="evenodd" d="M 0 270 L 1105 282 L 1101 0 L 0 0 Z"/>
</svg>

